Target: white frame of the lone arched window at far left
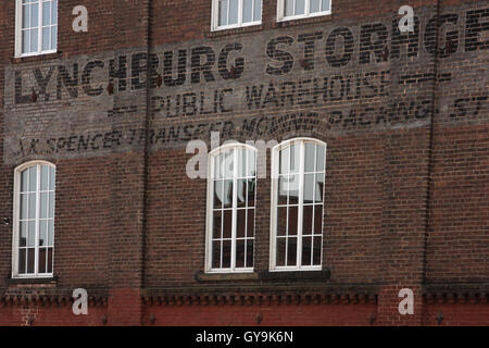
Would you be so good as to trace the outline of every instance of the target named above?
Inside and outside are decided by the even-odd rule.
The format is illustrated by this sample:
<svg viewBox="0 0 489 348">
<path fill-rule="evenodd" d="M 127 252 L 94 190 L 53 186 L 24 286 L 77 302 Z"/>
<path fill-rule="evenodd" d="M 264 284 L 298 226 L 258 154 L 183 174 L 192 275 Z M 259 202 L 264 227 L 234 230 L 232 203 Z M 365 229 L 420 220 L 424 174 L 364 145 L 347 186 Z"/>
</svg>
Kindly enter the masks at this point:
<svg viewBox="0 0 489 348">
<path fill-rule="evenodd" d="M 13 243 L 12 243 L 12 278 L 50 278 L 53 277 L 54 274 L 54 239 L 55 239 L 55 233 L 53 231 L 53 245 L 52 245 L 52 272 L 51 273 L 39 273 L 39 190 L 40 188 L 37 187 L 37 200 L 36 200 L 36 237 L 35 237 L 35 261 L 34 261 L 34 273 L 29 274 L 18 274 L 18 227 L 20 227 L 20 214 L 21 214 L 21 175 L 22 172 L 32 167 L 32 166 L 38 166 L 37 171 L 37 184 L 40 185 L 40 166 L 47 165 L 49 167 L 54 169 L 55 173 L 55 165 L 51 162 L 47 161 L 29 161 L 26 163 L 23 163 L 15 167 L 14 170 L 14 198 L 13 198 Z M 54 179 L 54 206 L 55 206 L 55 179 Z M 54 208 L 55 211 L 55 208 Z M 54 217 L 53 217 L 54 219 Z M 55 229 L 55 226 L 53 227 Z"/>
</svg>

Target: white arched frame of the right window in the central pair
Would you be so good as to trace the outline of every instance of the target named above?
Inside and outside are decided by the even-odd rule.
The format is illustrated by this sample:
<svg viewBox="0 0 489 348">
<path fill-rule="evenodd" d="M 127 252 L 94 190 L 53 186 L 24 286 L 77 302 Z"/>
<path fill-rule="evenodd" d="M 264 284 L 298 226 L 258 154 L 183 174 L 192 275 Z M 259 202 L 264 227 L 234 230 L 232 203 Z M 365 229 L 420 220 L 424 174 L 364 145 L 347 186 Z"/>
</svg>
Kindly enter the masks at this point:
<svg viewBox="0 0 489 348">
<path fill-rule="evenodd" d="M 272 197 L 271 197 L 271 241 L 269 241 L 269 271 L 271 272 L 290 272 L 290 271 L 321 271 L 323 269 L 323 247 L 321 247 L 321 263 L 318 265 L 302 265 L 302 217 L 303 217 L 303 189 L 304 189 L 304 163 L 305 163 L 305 142 L 313 142 L 315 145 L 324 146 L 324 177 L 326 181 L 326 159 L 327 146 L 326 142 L 314 138 L 292 138 L 276 145 L 272 149 Z M 277 266 L 277 198 L 278 198 L 278 177 L 279 177 L 279 159 L 280 150 L 294 144 L 300 146 L 300 169 L 299 169 L 299 206 L 298 206 L 298 250 L 297 250 L 297 265 L 293 266 Z M 325 209 L 325 190 L 323 187 L 323 216 L 322 216 L 322 235 L 324 245 L 324 209 Z"/>
</svg>

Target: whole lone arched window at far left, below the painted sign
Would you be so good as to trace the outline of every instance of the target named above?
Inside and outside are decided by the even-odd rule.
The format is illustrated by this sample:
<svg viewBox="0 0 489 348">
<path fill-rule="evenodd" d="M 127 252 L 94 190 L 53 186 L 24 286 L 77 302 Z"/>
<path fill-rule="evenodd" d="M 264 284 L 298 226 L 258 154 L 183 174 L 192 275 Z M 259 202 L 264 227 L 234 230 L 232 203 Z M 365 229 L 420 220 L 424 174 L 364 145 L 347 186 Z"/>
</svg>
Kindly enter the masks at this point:
<svg viewBox="0 0 489 348">
<path fill-rule="evenodd" d="M 53 275 L 55 167 L 24 163 L 14 173 L 13 277 Z"/>
</svg>

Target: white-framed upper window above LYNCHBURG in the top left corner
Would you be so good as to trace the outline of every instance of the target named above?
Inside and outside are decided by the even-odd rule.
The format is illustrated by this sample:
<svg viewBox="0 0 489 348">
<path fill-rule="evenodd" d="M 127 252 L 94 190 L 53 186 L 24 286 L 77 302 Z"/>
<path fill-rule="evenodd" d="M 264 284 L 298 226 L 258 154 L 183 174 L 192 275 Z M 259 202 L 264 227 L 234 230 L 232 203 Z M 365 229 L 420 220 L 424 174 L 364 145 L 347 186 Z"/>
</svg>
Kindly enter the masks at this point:
<svg viewBox="0 0 489 348">
<path fill-rule="evenodd" d="M 15 1 L 15 57 L 57 52 L 58 0 Z"/>
</svg>

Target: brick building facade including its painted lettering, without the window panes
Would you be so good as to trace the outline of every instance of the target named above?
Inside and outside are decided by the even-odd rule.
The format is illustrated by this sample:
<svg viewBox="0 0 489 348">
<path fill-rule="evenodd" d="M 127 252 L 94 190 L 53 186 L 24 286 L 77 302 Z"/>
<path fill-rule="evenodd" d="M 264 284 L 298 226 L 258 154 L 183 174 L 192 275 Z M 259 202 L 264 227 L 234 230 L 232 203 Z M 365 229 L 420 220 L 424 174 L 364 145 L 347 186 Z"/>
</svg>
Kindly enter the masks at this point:
<svg viewBox="0 0 489 348">
<path fill-rule="evenodd" d="M 290 21 L 277 4 L 215 30 L 212 0 L 59 1 L 55 52 L 23 57 L 15 1 L 0 3 L 0 325 L 489 324 L 489 2 L 333 0 Z M 209 183 L 187 175 L 186 149 L 212 133 L 324 145 L 315 268 L 273 270 L 267 151 L 252 270 L 210 272 Z M 32 250 L 47 263 L 25 269 L 29 164 L 55 167 L 55 232 L 39 248 L 38 203 Z M 72 312 L 76 288 L 88 315 Z"/>
</svg>

